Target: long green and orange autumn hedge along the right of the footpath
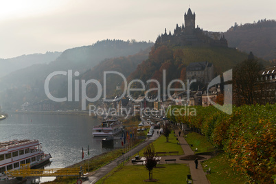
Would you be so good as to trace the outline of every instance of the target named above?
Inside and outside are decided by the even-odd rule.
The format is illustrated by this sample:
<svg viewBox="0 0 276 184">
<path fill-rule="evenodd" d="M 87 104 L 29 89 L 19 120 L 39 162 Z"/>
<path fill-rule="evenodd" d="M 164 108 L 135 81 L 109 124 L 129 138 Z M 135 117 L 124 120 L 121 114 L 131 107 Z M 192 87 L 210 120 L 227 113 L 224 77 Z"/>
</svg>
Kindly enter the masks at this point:
<svg viewBox="0 0 276 184">
<path fill-rule="evenodd" d="M 195 116 L 168 117 L 176 122 L 200 128 L 201 133 L 214 146 L 225 150 L 233 169 L 245 174 L 249 181 L 273 183 L 272 178 L 275 178 L 276 173 L 276 104 L 246 105 L 238 108 L 233 106 L 231 115 L 218 111 L 214 106 L 192 108 L 196 108 Z"/>
</svg>

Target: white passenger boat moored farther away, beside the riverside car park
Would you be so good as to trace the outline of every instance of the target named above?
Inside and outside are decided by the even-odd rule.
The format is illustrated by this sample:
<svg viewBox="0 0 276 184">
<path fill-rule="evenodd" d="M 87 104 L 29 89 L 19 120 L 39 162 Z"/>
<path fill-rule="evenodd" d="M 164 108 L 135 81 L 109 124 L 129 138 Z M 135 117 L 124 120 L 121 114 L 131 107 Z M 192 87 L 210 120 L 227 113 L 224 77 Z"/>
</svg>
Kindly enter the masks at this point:
<svg viewBox="0 0 276 184">
<path fill-rule="evenodd" d="M 122 122 L 117 118 L 106 119 L 102 124 L 93 127 L 93 137 L 108 137 L 114 136 L 122 131 Z"/>
</svg>

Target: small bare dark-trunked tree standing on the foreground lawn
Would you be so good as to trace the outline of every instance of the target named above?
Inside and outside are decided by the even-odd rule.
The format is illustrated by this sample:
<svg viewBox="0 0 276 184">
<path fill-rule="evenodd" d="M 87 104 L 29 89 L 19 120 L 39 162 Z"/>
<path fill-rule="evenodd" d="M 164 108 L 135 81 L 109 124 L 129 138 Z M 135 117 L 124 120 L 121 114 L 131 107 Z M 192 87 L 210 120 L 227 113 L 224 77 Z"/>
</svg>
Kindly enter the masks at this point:
<svg viewBox="0 0 276 184">
<path fill-rule="evenodd" d="M 152 180 L 152 170 L 157 165 L 157 160 L 155 158 L 157 155 L 154 151 L 154 146 L 152 143 L 146 147 L 144 155 L 146 157 L 146 168 L 148 170 L 148 176 L 149 179 Z"/>
</svg>

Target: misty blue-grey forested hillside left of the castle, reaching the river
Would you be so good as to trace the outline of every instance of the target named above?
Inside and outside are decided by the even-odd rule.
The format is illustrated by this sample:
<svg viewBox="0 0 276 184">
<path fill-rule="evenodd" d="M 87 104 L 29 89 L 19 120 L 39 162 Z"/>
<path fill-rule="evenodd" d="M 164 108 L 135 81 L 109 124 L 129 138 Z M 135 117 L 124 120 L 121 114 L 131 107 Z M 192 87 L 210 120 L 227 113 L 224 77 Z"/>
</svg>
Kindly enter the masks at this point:
<svg viewBox="0 0 276 184">
<path fill-rule="evenodd" d="M 97 75 L 90 75 L 89 73 L 100 72 L 98 69 L 104 70 L 106 67 L 110 69 L 112 66 L 111 61 L 108 61 L 106 58 L 124 60 L 124 63 L 118 65 L 117 68 L 122 65 L 126 66 L 125 71 L 126 75 L 128 75 L 128 71 L 133 71 L 138 65 L 138 62 L 145 59 L 148 53 L 144 54 L 142 58 L 139 58 L 138 54 L 135 62 L 129 62 L 131 57 L 126 56 L 137 54 L 139 51 L 145 50 L 151 45 L 153 43 L 106 40 L 99 41 L 91 46 L 68 49 L 59 58 L 49 64 L 32 65 L 25 69 L 14 71 L 8 76 L 1 78 L 0 104 L 3 104 L 5 109 L 20 109 L 21 104 L 24 102 L 32 103 L 47 99 L 44 91 L 44 82 L 49 73 L 54 71 L 68 71 L 72 69 L 73 71 L 80 72 L 78 79 L 82 78 L 82 76 L 87 79 L 97 79 Z M 93 70 L 93 67 L 102 60 L 105 60 L 104 63 L 106 64 L 102 65 L 102 67 L 98 66 L 97 69 Z M 52 95 L 55 97 L 67 96 L 67 77 L 58 75 L 51 78 L 49 91 Z"/>
</svg>

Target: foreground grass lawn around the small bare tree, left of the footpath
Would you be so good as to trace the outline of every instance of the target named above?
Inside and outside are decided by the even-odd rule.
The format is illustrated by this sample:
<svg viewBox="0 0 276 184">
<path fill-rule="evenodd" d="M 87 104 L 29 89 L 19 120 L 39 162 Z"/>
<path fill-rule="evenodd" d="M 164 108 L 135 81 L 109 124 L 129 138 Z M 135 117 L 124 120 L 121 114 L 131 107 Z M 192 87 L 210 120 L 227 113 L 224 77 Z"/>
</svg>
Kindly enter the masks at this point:
<svg viewBox="0 0 276 184">
<path fill-rule="evenodd" d="M 153 169 L 154 183 L 184 183 L 189 174 L 185 164 L 161 164 Z M 148 170 L 144 165 L 126 165 L 119 167 L 102 178 L 97 183 L 143 183 L 148 179 Z"/>
</svg>

